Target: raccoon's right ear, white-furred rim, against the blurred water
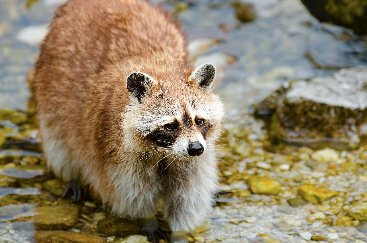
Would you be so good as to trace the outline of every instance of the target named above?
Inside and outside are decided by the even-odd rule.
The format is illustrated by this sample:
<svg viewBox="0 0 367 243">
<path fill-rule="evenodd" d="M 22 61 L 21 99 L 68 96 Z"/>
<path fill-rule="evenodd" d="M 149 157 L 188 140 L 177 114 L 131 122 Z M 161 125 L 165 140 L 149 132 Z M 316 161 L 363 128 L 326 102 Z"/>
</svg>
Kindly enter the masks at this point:
<svg viewBox="0 0 367 243">
<path fill-rule="evenodd" d="M 212 64 L 203 64 L 191 73 L 189 79 L 195 80 L 203 90 L 210 90 L 215 79 L 215 67 Z"/>
</svg>

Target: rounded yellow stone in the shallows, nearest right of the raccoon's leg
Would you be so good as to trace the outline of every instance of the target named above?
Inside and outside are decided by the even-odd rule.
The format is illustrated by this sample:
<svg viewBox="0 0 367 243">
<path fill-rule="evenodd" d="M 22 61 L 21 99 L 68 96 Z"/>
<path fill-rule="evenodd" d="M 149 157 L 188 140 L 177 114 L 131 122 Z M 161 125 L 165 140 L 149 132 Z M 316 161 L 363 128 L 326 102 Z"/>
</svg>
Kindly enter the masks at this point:
<svg viewBox="0 0 367 243">
<path fill-rule="evenodd" d="M 269 179 L 267 177 L 250 176 L 247 184 L 253 193 L 276 195 L 281 191 L 280 183 L 275 179 Z"/>
</svg>

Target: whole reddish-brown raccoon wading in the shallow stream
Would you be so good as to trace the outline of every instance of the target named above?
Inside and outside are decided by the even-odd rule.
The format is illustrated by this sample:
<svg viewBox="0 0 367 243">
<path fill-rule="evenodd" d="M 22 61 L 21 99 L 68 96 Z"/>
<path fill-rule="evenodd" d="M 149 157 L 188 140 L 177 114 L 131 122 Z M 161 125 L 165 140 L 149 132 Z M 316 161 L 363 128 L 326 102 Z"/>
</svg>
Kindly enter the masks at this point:
<svg viewBox="0 0 367 243">
<path fill-rule="evenodd" d="M 194 69 L 186 46 L 147 1 L 69 0 L 28 78 L 50 170 L 140 219 L 153 241 L 159 202 L 171 242 L 186 242 L 179 232 L 202 223 L 217 186 L 224 107 L 215 67 Z"/>
</svg>

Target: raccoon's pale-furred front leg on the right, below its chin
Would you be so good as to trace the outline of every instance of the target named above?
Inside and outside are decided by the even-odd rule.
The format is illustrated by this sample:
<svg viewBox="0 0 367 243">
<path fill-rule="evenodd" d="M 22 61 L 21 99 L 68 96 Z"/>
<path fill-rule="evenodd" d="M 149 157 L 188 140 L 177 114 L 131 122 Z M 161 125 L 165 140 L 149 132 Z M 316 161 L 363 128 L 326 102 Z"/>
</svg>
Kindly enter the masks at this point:
<svg viewBox="0 0 367 243">
<path fill-rule="evenodd" d="M 202 158 L 167 168 L 164 217 L 172 231 L 189 231 L 202 224 L 217 188 L 215 158 Z"/>
</svg>

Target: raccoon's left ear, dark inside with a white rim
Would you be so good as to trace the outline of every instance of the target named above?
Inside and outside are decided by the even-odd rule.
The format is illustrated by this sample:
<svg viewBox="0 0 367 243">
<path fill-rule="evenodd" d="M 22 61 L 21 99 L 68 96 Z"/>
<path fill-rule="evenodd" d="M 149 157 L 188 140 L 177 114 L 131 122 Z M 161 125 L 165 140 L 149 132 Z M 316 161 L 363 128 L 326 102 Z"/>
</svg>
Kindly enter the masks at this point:
<svg viewBox="0 0 367 243">
<path fill-rule="evenodd" d="M 129 94 L 132 97 L 136 97 L 140 103 L 141 99 L 152 89 L 154 83 L 155 80 L 148 74 L 133 72 L 127 77 L 126 87 Z"/>
</svg>

